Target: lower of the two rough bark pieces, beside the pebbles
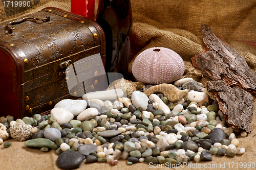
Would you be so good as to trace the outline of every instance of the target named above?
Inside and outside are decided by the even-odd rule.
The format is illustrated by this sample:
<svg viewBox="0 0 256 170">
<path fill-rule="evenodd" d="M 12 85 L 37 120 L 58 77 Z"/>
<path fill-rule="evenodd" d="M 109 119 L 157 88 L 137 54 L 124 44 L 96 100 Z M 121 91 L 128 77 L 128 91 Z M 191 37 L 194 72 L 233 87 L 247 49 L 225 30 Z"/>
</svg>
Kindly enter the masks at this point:
<svg viewBox="0 0 256 170">
<path fill-rule="evenodd" d="M 241 87 L 230 87 L 223 80 L 208 81 L 207 89 L 219 103 L 227 124 L 236 130 L 252 130 L 253 97 Z"/>
</svg>

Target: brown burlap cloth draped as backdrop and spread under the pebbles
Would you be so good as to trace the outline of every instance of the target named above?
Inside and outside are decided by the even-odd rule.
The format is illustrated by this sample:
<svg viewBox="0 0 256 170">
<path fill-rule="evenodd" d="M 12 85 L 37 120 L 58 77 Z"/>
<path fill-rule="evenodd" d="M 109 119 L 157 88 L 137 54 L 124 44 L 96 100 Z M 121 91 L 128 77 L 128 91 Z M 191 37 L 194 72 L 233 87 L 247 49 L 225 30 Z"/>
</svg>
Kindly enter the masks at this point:
<svg viewBox="0 0 256 170">
<path fill-rule="evenodd" d="M 6 16 L 4 7 L 0 5 L 0 19 L 6 21 L 21 17 L 45 7 L 58 7 L 70 11 L 70 1 L 33 2 L 39 3 L 27 11 L 12 16 Z M 96 9 L 97 2 L 96 0 Z M 207 81 L 207 78 L 202 77 L 201 72 L 196 70 L 190 62 L 191 57 L 204 50 L 200 32 L 202 24 L 210 26 L 217 36 L 233 46 L 246 59 L 250 68 L 256 71 L 256 2 L 254 0 L 131 0 L 131 2 L 133 9 L 133 37 L 129 65 L 131 77 L 132 63 L 136 56 L 147 48 L 161 46 L 170 48 L 183 58 L 186 68 L 183 77 L 193 77 L 201 82 Z M 245 148 L 245 154 L 236 155 L 233 158 L 212 156 L 212 161 L 197 164 L 195 161 L 190 161 L 190 165 L 174 169 L 255 169 L 255 116 L 253 116 L 252 125 L 253 130 L 247 137 L 237 136 L 240 141 L 239 147 Z M 25 147 L 24 142 L 14 139 L 7 141 L 12 145 L 7 149 L 3 144 L 0 145 L 0 169 L 59 169 L 56 165 L 58 155 L 54 150 L 44 153 L 39 149 Z M 150 168 L 165 169 L 164 166 L 150 166 L 148 163 L 129 166 L 126 165 L 125 160 L 120 160 L 116 166 L 109 163 L 82 163 L 77 169 Z"/>
</svg>

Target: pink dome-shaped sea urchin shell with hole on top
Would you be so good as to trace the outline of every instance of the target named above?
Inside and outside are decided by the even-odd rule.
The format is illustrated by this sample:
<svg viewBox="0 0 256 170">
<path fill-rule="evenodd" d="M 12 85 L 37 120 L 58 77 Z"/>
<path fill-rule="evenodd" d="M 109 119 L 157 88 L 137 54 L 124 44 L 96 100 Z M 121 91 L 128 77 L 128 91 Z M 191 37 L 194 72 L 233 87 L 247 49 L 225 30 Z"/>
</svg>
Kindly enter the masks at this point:
<svg viewBox="0 0 256 170">
<path fill-rule="evenodd" d="M 141 52 L 133 62 L 133 76 L 142 83 L 170 83 L 181 78 L 185 66 L 182 58 L 164 47 L 153 47 Z"/>
</svg>

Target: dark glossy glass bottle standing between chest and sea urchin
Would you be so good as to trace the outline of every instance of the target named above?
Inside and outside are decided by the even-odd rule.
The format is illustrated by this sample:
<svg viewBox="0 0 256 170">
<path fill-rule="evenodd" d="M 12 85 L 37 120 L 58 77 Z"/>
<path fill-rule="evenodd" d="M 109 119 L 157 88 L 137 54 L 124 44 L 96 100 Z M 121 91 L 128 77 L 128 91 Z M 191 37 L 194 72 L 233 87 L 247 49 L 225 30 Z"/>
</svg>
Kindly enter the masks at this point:
<svg viewBox="0 0 256 170">
<path fill-rule="evenodd" d="M 132 38 L 130 0 L 99 0 L 96 21 L 105 33 L 105 72 L 119 72 L 126 78 Z"/>
</svg>

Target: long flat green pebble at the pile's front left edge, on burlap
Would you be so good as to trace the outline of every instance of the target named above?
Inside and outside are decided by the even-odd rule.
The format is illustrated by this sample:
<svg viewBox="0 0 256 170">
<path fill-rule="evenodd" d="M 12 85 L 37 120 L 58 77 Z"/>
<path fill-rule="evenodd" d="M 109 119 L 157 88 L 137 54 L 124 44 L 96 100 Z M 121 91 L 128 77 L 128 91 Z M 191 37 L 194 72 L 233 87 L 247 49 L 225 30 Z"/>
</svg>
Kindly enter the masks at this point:
<svg viewBox="0 0 256 170">
<path fill-rule="evenodd" d="M 24 144 L 26 147 L 35 147 L 35 148 L 47 147 L 53 150 L 58 149 L 57 144 L 45 138 L 30 139 L 30 140 L 27 140 Z"/>
</svg>

